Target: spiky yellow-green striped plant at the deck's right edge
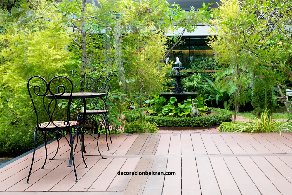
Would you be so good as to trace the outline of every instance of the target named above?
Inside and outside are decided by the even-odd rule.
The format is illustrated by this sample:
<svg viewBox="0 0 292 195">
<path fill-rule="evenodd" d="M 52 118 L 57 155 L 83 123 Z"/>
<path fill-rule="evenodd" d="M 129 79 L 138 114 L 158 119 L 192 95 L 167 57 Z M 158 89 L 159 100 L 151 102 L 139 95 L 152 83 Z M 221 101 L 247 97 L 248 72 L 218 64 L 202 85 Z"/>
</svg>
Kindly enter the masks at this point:
<svg viewBox="0 0 292 195">
<path fill-rule="evenodd" d="M 281 129 L 292 131 L 292 122 L 279 122 L 279 119 L 272 121 L 271 116 L 268 116 L 267 108 L 262 112 L 259 118 L 251 117 L 246 122 L 236 122 L 232 125 L 233 128 L 237 129 L 235 132 L 279 132 Z"/>
</svg>

